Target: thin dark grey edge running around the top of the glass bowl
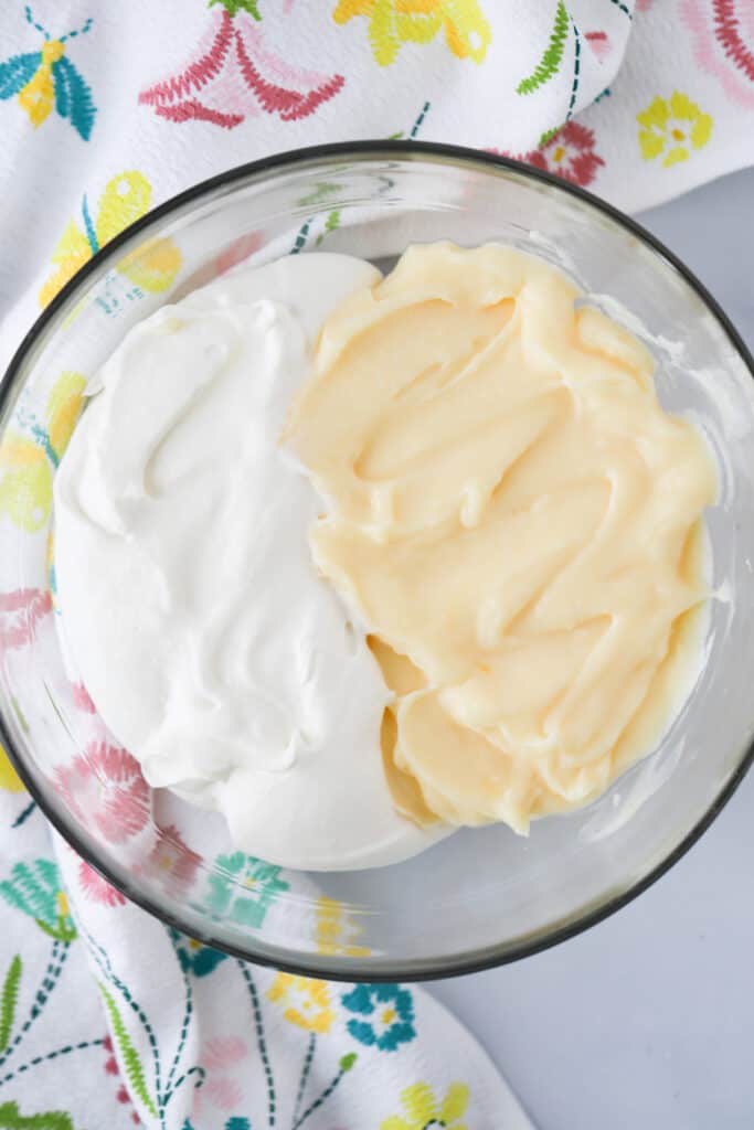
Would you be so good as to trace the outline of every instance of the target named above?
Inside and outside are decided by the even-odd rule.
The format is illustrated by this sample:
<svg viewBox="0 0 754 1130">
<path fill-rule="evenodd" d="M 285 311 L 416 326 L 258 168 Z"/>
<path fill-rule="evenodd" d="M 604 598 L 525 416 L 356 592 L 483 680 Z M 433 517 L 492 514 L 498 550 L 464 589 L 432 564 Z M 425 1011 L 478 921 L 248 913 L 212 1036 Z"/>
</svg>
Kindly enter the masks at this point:
<svg viewBox="0 0 754 1130">
<path fill-rule="evenodd" d="M 521 165 L 505 157 L 478 153 L 457 146 L 428 142 L 398 142 L 388 145 L 381 141 L 364 141 L 318 146 L 241 165 L 228 173 L 220 174 L 180 193 L 116 236 L 67 284 L 21 341 L 8 366 L 5 381 L 0 388 L 0 419 L 3 421 L 3 427 L 24 384 L 26 373 L 34 363 L 35 356 L 42 350 L 45 341 L 54 334 L 55 329 L 64 321 L 68 313 L 86 293 L 89 285 L 105 273 L 113 261 L 128 252 L 132 245 L 141 240 L 150 238 L 153 234 L 157 234 L 165 220 L 176 218 L 185 212 L 192 212 L 198 206 L 206 203 L 210 199 L 220 198 L 237 185 L 258 183 L 267 176 L 285 172 L 286 169 L 317 168 L 322 162 L 346 160 L 358 163 L 375 159 L 388 163 L 401 163 L 407 159 L 409 162 L 411 159 L 428 160 L 436 163 L 439 169 L 442 169 L 443 166 L 452 165 L 454 167 L 503 171 L 508 174 L 512 173 L 517 177 L 522 177 L 540 185 L 547 185 L 556 193 L 577 199 L 581 205 L 587 206 L 587 208 L 593 210 L 600 217 L 617 225 L 644 247 L 650 249 L 665 264 L 677 273 L 683 284 L 701 299 L 727 338 L 731 349 L 737 354 L 748 375 L 754 377 L 754 358 L 712 295 L 693 272 L 665 247 L 660 241 L 610 205 L 577 185 L 560 181 L 556 176 L 547 172 Z M 267 946 L 263 941 L 257 945 L 250 940 L 248 948 L 236 946 L 228 942 L 227 938 L 224 938 L 220 931 L 214 931 L 191 912 L 179 913 L 162 905 L 158 899 L 151 897 L 148 890 L 140 889 L 138 884 L 130 879 L 125 869 L 120 871 L 116 866 L 111 866 L 107 861 L 103 861 L 98 857 L 96 849 L 89 843 L 87 835 L 77 827 L 75 819 L 63 809 L 58 799 L 53 800 L 46 794 L 41 777 L 37 779 L 29 765 L 26 764 L 14 729 L 15 720 L 6 716 L 3 711 L 0 710 L 0 739 L 33 799 L 38 803 L 53 827 L 71 846 L 99 871 L 107 881 L 122 890 L 129 899 L 156 918 L 162 919 L 168 925 L 183 932 L 189 932 L 206 945 L 215 946 L 236 957 L 251 959 L 259 964 L 271 965 L 302 975 L 317 975 L 344 981 L 410 981 L 473 973 L 530 956 L 573 937 L 625 906 L 673 867 L 719 815 L 754 760 L 754 741 L 752 741 L 740 750 L 740 757 L 735 768 L 727 776 L 703 816 L 667 852 L 656 867 L 635 881 L 622 884 L 619 887 L 614 888 L 608 895 L 600 897 L 597 903 L 592 901 L 577 906 L 569 914 L 561 915 L 555 921 L 549 922 L 546 928 L 522 932 L 501 945 L 483 946 L 471 948 L 465 953 L 453 954 L 450 958 L 447 956 L 426 959 L 407 958 L 405 960 L 392 958 L 380 959 L 367 956 L 343 958 L 319 954 L 310 955 L 286 951 L 279 947 Z"/>
</svg>

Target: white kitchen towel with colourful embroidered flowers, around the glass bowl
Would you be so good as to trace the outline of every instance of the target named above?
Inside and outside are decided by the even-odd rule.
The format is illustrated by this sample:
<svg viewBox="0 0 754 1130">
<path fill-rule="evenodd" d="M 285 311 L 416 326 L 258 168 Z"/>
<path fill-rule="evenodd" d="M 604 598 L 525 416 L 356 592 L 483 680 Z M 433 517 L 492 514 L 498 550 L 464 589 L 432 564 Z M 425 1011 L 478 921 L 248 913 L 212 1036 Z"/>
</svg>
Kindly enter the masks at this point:
<svg viewBox="0 0 754 1130">
<path fill-rule="evenodd" d="M 0 366 L 107 240 L 242 162 L 462 140 L 638 210 L 752 163 L 753 123 L 751 0 L 5 0 Z M 24 599 L 0 594 L 14 646 Z M 0 1130 L 530 1124 L 425 991 L 171 932 L 51 838 L 5 759 L 0 788 Z M 236 864 L 275 899 L 275 869 Z"/>
</svg>

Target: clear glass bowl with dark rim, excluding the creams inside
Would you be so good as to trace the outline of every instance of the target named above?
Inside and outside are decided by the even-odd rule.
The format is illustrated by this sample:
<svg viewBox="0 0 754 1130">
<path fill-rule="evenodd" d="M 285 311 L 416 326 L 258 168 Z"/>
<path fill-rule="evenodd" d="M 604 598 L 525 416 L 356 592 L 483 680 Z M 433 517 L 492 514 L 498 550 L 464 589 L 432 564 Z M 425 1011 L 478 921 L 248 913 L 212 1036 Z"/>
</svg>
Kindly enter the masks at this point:
<svg viewBox="0 0 754 1130">
<path fill-rule="evenodd" d="M 284 872 L 233 852 L 218 817 L 150 794 L 69 683 L 55 632 L 52 477 L 81 377 L 156 306 L 246 259 L 322 246 L 384 267 L 430 240 L 534 250 L 648 341 L 664 403 L 699 423 L 720 464 L 705 662 L 659 750 L 589 808 L 535 824 L 529 838 L 466 829 L 396 867 Z M 2 385 L 0 732 L 20 775 L 129 898 L 255 962 L 350 981 L 430 977 L 511 960 L 597 922 L 683 854 L 752 759 L 752 375 L 720 308 L 656 240 L 513 162 L 418 144 L 328 146 L 183 193 L 76 276 Z"/>
</svg>

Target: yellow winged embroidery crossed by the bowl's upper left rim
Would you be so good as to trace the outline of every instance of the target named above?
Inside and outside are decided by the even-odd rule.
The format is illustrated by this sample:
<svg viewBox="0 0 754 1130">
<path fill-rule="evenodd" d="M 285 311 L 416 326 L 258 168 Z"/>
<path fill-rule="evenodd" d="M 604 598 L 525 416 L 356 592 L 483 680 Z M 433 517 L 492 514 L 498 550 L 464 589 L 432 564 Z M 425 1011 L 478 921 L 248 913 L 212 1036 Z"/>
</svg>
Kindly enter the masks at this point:
<svg viewBox="0 0 754 1130">
<path fill-rule="evenodd" d="M 107 182 L 94 220 L 85 195 L 80 221 L 68 221 L 52 253 L 55 270 L 40 290 L 40 305 L 46 306 L 84 263 L 124 227 L 140 219 L 150 203 L 151 185 L 137 169 L 127 169 Z M 172 240 L 151 240 L 118 264 L 121 273 L 150 294 L 166 290 L 180 268 L 181 252 Z"/>
</svg>

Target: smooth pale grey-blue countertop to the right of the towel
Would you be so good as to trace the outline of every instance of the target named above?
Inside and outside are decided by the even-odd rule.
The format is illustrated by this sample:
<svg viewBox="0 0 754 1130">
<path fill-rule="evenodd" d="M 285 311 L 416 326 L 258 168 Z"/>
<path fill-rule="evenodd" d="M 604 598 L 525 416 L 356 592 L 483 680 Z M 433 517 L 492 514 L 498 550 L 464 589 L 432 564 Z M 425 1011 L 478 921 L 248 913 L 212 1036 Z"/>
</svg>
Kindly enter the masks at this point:
<svg viewBox="0 0 754 1130">
<path fill-rule="evenodd" d="M 754 348 L 754 169 L 640 220 Z M 691 852 L 606 922 L 428 988 L 540 1130 L 753 1130 L 753 964 L 754 771 Z"/>
</svg>

